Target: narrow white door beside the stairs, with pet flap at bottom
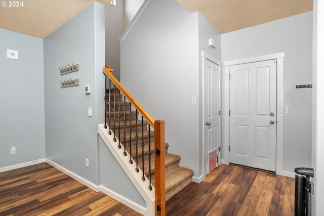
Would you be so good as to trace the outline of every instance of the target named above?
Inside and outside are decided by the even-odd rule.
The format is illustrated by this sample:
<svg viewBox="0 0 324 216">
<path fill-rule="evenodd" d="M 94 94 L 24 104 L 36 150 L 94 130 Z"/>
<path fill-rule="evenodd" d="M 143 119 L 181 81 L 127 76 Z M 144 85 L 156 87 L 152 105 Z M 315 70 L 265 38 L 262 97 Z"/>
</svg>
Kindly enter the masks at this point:
<svg viewBox="0 0 324 216">
<path fill-rule="evenodd" d="M 209 155 L 220 146 L 219 112 L 220 66 L 204 58 L 204 158 L 208 166 L 205 166 L 205 174 L 208 174 L 210 169 Z"/>
</svg>

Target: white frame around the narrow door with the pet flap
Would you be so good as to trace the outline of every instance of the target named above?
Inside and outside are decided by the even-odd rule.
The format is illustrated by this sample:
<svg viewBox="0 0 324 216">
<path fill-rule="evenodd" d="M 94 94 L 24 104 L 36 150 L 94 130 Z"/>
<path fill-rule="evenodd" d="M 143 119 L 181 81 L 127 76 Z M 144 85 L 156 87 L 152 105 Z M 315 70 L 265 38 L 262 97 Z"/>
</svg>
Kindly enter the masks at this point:
<svg viewBox="0 0 324 216">
<path fill-rule="evenodd" d="M 222 85 L 222 77 L 223 76 L 222 76 L 222 64 L 221 64 L 221 61 L 218 61 L 216 58 L 214 58 L 213 56 L 209 55 L 208 53 L 206 53 L 204 51 L 201 52 L 201 56 L 203 57 L 202 58 L 202 65 L 203 65 L 203 75 L 202 75 L 202 79 L 204 80 L 204 67 L 205 67 L 205 65 L 204 65 L 204 59 L 206 58 L 206 59 L 209 59 L 210 61 L 214 62 L 215 64 L 219 65 L 220 74 L 221 74 L 221 82 L 220 82 L 220 85 Z M 204 84 L 205 83 L 203 81 L 203 89 L 202 90 L 204 90 Z M 203 94 L 203 96 L 204 96 L 204 94 Z M 221 86 L 219 87 L 219 96 L 220 96 L 220 98 L 222 96 L 222 88 L 221 88 Z M 203 111 L 201 112 L 202 113 L 201 114 L 201 116 L 202 116 L 201 119 L 204 119 L 204 115 L 205 115 L 205 113 L 204 113 L 204 100 L 205 99 L 203 99 L 203 103 L 202 103 L 203 104 Z M 220 108 L 222 107 L 221 102 L 222 101 L 220 101 Z M 222 123 L 221 123 L 222 122 L 222 115 L 220 115 L 219 117 L 220 117 L 220 125 L 219 125 L 220 133 L 219 134 L 221 136 L 221 141 L 222 141 Z M 200 124 L 201 124 L 200 126 L 203 126 L 202 128 L 203 128 L 203 131 L 204 131 L 204 129 L 205 129 L 204 122 L 200 122 Z M 203 134 L 204 134 L 204 132 L 203 132 Z M 202 153 L 203 153 L 203 176 L 205 178 L 205 176 L 207 174 L 209 174 L 209 154 L 208 154 L 208 146 L 205 145 L 204 135 L 203 135 L 203 152 Z"/>
</svg>

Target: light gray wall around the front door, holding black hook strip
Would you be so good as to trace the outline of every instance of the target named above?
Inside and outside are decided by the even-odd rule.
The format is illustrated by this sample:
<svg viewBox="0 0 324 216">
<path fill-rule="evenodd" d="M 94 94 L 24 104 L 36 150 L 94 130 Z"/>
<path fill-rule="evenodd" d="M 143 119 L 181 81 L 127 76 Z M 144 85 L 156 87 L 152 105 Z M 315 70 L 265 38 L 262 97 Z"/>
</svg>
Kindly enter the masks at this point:
<svg viewBox="0 0 324 216">
<path fill-rule="evenodd" d="M 222 34 L 222 61 L 285 52 L 284 172 L 311 165 L 312 12 Z"/>
</svg>

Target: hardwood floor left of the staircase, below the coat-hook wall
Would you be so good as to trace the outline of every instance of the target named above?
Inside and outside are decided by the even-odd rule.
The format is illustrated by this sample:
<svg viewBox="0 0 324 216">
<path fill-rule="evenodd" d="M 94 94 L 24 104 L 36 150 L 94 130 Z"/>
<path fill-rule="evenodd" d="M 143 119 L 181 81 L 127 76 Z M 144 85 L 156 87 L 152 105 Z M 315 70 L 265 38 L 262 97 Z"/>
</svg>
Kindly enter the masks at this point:
<svg viewBox="0 0 324 216">
<path fill-rule="evenodd" d="M 0 173 L 0 215 L 141 215 L 47 163 Z"/>
</svg>

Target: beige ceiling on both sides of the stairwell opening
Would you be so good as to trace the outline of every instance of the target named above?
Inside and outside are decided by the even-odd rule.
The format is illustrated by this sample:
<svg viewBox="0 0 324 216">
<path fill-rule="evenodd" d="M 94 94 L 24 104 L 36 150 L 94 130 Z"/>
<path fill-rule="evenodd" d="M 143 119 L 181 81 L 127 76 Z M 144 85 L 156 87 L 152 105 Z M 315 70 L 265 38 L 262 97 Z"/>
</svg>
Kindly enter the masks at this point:
<svg viewBox="0 0 324 216">
<path fill-rule="evenodd" d="M 111 1 L 97 0 L 103 5 Z M 177 1 L 191 13 L 199 11 L 220 33 L 251 27 L 313 9 L 312 0 Z M 7 5 L 7 7 L 0 7 L 0 28 L 45 38 L 92 2 L 94 0 L 28 0 L 23 2 L 23 7 Z"/>
</svg>

